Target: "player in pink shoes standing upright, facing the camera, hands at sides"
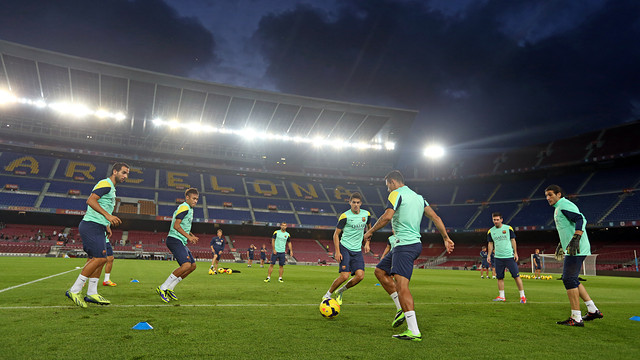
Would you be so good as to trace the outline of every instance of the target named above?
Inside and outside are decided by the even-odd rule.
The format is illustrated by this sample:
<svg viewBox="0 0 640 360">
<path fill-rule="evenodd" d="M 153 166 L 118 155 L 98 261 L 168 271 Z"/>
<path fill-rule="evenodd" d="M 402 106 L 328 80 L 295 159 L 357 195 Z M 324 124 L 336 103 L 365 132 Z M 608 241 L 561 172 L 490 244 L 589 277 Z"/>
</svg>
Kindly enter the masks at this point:
<svg viewBox="0 0 640 360">
<path fill-rule="evenodd" d="M 496 277 L 498 278 L 498 297 L 493 301 L 506 301 L 504 296 L 504 270 L 509 269 L 511 277 L 516 281 L 518 290 L 520 291 L 520 303 L 526 304 L 527 298 L 524 296 L 524 287 L 522 279 L 518 272 L 518 250 L 516 247 L 516 233 L 513 228 L 507 224 L 503 224 L 502 214 L 495 212 L 491 214 L 493 219 L 493 227 L 487 232 L 487 242 L 489 243 L 489 252 L 494 250 Z"/>
</svg>

